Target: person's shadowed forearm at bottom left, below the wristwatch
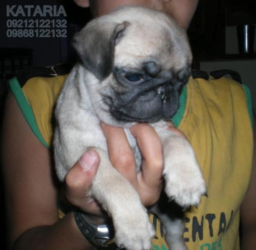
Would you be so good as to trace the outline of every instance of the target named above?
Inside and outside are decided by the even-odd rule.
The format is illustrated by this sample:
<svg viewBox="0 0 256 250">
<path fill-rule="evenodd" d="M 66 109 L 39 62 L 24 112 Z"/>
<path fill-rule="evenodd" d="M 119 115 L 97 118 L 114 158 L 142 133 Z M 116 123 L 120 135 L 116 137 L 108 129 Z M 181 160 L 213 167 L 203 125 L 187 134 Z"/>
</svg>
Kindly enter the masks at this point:
<svg viewBox="0 0 256 250">
<path fill-rule="evenodd" d="M 73 213 L 53 225 L 35 227 L 24 232 L 14 244 L 13 250 L 95 250 L 81 234 Z"/>
</svg>

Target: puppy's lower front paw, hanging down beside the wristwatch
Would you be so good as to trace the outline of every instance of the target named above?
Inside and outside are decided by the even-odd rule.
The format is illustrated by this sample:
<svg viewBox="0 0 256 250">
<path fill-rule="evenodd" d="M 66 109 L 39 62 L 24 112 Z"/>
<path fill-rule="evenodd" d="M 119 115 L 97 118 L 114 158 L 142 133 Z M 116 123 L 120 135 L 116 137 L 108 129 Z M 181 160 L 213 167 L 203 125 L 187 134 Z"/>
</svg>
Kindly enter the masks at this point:
<svg viewBox="0 0 256 250">
<path fill-rule="evenodd" d="M 116 216 L 114 224 L 117 246 L 126 250 L 151 249 L 151 238 L 154 237 L 155 230 L 145 208 L 134 207 L 132 213 L 124 213 L 121 218 Z"/>
</svg>

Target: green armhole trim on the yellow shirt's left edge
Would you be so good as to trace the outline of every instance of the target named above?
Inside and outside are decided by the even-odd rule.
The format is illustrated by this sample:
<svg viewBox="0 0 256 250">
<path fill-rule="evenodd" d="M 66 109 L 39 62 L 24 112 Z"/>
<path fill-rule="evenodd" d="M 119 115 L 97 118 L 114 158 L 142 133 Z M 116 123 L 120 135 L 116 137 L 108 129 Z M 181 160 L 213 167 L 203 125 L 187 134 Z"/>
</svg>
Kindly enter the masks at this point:
<svg viewBox="0 0 256 250">
<path fill-rule="evenodd" d="M 11 91 L 20 107 L 22 114 L 24 115 L 27 123 L 29 124 L 29 127 L 32 129 L 35 136 L 41 141 L 41 143 L 45 147 L 49 148 L 49 145 L 46 143 L 46 141 L 44 141 L 44 138 L 42 137 L 41 132 L 38 129 L 38 125 L 36 123 L 33 110 L 31 108 L 31 106 L 29 105 L 25 95 L 23 94 L 22 89 L 20 88 L 20 84 L 16 77 L 12 78 L 9 81 L 9 86 L 10 86 Z"/>
</svg>

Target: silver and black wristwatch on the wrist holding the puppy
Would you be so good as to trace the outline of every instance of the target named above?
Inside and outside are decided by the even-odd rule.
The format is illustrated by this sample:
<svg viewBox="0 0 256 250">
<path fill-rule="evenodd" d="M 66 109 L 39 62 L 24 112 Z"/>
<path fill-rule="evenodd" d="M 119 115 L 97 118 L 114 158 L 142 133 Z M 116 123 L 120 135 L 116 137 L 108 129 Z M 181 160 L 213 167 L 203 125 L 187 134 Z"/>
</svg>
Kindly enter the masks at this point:
<svg viewBox="0 0 256 250">
<path fill-rule="evenodd" d="M 87 214 L 74 211 L 74 218 L 81 233 L 91 244 L 97 247 L 108 247 L 108 242 L 114 238 L 112 223 L 97 225 L 90 222 Z"/>
</svg>

